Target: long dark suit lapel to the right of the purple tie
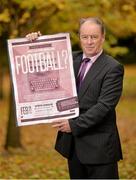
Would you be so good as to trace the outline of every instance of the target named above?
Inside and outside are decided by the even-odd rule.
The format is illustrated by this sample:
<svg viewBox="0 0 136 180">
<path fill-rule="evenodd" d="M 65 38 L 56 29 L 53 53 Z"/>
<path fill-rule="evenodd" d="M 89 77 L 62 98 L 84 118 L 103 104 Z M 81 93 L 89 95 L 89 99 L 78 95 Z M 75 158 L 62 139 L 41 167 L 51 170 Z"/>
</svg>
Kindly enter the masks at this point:
<svg viewBox="0 0 136 180">
<path fill-rule="evenodd" d="M 100 71 L 104 68 L 106 64 L 104 57 L 105 55 L 104 53 L 102 53 L 100 57 L 98 57 L 98 59 L 93 63 L 88 73 L 86 74 L 85 79 L 82 82 L 82 85 L 79 90 L 79 94 L 78 94 L 79 99 L 82 98 L 89 84 L 93 83 L 93 80 L 96 78 L 96 76 L 99 75 Z"/>
</svg>

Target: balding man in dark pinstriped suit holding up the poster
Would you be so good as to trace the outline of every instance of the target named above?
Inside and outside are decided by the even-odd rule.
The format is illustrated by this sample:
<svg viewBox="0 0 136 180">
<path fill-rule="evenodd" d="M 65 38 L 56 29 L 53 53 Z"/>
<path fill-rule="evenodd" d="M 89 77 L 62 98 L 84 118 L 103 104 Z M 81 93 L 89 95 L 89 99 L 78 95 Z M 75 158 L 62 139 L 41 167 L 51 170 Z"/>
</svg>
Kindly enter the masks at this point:
<svg viewBox="0 0 136 180">
<path fill-rule="evenodd" d="M 73 59 L 80 114 L 53 123 L 58 128 L 55 149 L 68 158 L 71 179 L 118 179 L 122 151 L 115 107 L 123 66 L 103 52 L 105 28 L 99 18 L 82 19 L 79 38 L 83 52 Z"/>
</svg>

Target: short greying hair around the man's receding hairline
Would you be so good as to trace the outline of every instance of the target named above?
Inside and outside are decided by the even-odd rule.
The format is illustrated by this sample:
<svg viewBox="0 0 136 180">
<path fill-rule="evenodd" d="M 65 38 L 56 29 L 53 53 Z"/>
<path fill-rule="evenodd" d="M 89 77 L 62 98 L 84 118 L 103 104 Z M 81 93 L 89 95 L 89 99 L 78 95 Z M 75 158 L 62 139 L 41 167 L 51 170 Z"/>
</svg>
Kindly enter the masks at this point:
<svg viewBox="0 0 136 180">
<path fill-rule="evenodd" d="M 88 17 L 88 18 L 81 18 L 80 19 L 80 21 L 79 21 L 79 34 L 80 34 L 80 29 L 81 29 L 81 26 L 85 23 L 85 22 L 93 22 L 93 23 L 95 23 L 95 24 L 97 24 L 97 25 L 99 25 L 100 26 L 100 28 L 101 28 L 101 32 L 102 32 L 102 34 L 105 34 L 105 25 L 104 25 L 104 22 L 100 19 L 100 18 L 98 18 L 98 17 Z"/>
</svg>

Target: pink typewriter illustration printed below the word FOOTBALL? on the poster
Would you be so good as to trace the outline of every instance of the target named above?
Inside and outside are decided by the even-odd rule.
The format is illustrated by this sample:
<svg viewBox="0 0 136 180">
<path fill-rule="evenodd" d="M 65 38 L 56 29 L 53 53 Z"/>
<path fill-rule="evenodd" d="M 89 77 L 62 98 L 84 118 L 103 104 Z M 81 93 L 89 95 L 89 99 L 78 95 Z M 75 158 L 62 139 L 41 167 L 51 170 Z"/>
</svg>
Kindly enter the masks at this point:
<svg viewBox="0 0 136 180">
<path fill-rule="evenodd" d="M 31 92 L 54 90 L 60 87 L 59 71 L 45 71 L 28 73 L 28 82 Z"/>
</svg>

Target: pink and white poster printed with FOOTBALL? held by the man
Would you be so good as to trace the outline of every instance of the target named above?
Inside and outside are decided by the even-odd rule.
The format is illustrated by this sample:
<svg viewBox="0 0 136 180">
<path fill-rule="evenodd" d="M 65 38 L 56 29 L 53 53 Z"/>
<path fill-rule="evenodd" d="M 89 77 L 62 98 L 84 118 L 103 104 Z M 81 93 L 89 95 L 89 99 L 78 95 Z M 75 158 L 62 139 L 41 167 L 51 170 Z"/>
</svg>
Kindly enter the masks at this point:
<svg viewBox="0 0 136 180">
<path fill-rule="evenodd" d="M 79 115 L 68 33 L 8 40 L 17 125 Z"/>
</svg>

